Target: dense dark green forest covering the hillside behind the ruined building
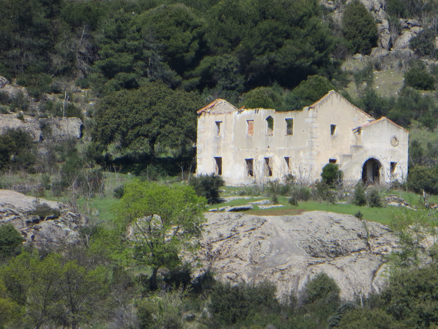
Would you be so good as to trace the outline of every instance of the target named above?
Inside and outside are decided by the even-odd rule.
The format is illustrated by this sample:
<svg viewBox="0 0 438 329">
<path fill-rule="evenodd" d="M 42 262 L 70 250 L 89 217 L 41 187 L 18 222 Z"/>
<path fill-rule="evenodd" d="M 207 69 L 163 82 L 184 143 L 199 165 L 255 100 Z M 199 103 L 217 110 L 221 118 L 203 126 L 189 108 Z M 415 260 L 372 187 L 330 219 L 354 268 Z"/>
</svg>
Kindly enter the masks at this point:
<svg viewBox="0 0 438 329">
<path fill-rule="evenodd" d="M 433 58 L 434 4 L 419 9 L 410 0 L 391 0 L 386 6 L 391 31 L 401 31 L 399 18 L 422 18 L 425 29 L 410 48 Z M 434 89 L 438 69 L 415 57 L 386 64 L 376 58 L 359 70 L 343 69 L 352 54 L 370 54 L 377 46 L 381 21 L 359 1 L 339 2 L 339 8 L 341 20 L 316 0 L 5 0 L 0 75 L 26 87 L 39 117 L 83 119 L 92 137 L 88 157 L 123 166 L 124 172 L 141 173 L 141 164 L 148 163 L 174 174 L 175 161 L 168 165 L 162 158 L 194 156 L 194 110 L 216 98 L 290 111 L 335 89 L 375 118 L 433 130 L 436 99 L 417 89 Z M 374 73 L 385 65 L 405 72 L 398 95 L 381 96 L 374 89 Z M 93 106 L 70 102 L 78 88 Z M 2 113 L 35 115 L 23 97 L 0 98 Z M 64 98 L 69 101 L 60 110 Z"/>
</svg>

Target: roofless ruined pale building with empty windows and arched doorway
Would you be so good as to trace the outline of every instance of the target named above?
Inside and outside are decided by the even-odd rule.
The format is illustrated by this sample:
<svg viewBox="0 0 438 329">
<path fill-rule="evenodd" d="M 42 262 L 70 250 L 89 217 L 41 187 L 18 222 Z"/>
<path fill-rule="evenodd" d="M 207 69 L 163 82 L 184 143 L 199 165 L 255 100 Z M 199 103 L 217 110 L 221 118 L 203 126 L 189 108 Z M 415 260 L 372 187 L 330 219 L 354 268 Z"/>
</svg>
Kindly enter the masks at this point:
<svg viewBox="0 0 438 329">
<path fill-rule="evenodd" d="M 215 100 L 198 112 L 197 174 L 222 175 L 228 185 L 321 179 L 327 163 L 344 179 L 367 184 L 406 180 L 408 132 L 375 120 L 330 91 L 302 111 L 237 109 Z"/>
</svg>

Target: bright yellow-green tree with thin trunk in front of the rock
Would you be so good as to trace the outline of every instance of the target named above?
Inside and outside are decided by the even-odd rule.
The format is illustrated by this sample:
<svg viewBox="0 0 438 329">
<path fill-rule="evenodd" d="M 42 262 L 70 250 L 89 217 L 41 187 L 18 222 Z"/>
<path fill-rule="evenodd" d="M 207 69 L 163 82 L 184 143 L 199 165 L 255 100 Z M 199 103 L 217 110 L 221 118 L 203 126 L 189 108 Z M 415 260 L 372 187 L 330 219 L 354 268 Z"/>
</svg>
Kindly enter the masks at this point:
<svg viewBox="0 0 438 329">
<path fill-rule="evenodd" d="M 122 227 L 131 224 L 134 260 L 152 267 L 151 289 L 157 289 L 160 267 L 182 263 L 181 252 L 198 246 L 205 218 L 206 199 L 197 197 L 190 186 L 170 188 L 150 182 L 134 182 L 124 188 L 116 207 Z"/>
</svg>

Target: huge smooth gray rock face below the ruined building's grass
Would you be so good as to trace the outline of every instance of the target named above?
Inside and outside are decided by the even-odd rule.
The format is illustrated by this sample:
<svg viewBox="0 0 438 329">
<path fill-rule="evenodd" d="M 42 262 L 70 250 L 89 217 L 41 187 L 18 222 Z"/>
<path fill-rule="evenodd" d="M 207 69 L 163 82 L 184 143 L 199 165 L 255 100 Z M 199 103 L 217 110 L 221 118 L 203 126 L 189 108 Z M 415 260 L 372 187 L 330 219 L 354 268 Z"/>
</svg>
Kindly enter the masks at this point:
<svg viewBox="0 0 438 329">
<path fill-rule="evenodd" d="M 279 296 L 297 293 L 320 272 L 336 280 L 342 298 L 379 292 L 385 286 L 385 277 L 378 275 L 383 255 L 396 246 L 387 226 L 351 215 L 311 211 L 295 216 L 205 216 L 199 272 L 211 270 L 217 279 L 232 283 L 268 280 Z"/>
</svg>

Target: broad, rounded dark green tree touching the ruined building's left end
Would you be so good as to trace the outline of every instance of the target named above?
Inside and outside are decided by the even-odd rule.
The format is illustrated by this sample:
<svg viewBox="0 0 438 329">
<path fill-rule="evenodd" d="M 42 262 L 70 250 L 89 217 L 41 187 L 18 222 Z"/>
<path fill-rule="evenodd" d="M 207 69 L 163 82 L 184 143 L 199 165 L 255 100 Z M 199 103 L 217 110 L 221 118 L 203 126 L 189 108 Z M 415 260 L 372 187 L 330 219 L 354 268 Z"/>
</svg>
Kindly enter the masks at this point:
<svg viewBox="0 0 438 329">
<path fill-rule="evenodd" d="M 97 108 L 93 140 L 105 147 L 117 142 L 125 154 L 155 155 L 156 143 L 187 154 L 196 142 L 196 111 L 202 104 L 198 94 L 162 82 L 114 92 Z"/>
</svg>

